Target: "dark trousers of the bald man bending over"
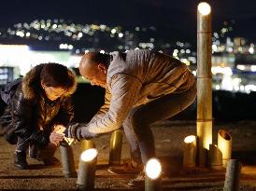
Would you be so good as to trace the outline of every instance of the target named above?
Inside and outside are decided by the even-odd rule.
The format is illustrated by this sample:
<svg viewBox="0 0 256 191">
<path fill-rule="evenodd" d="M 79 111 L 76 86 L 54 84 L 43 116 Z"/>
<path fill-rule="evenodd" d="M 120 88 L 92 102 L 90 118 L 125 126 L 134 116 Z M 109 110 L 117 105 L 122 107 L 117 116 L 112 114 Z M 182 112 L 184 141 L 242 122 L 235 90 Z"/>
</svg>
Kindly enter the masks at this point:
<svg viewBox="0 0 256 191">
<path fill-rule="evenodd" d="M 157 100 L 133 108 L 123 123 L 123 130 L 130 144 L 131 157 L 145 165 L 155 157 L 155 146 L 149 125 L 177 115 L 194 102 L 196 84 L 181 93 L 165 95 Z"/>
</svg>

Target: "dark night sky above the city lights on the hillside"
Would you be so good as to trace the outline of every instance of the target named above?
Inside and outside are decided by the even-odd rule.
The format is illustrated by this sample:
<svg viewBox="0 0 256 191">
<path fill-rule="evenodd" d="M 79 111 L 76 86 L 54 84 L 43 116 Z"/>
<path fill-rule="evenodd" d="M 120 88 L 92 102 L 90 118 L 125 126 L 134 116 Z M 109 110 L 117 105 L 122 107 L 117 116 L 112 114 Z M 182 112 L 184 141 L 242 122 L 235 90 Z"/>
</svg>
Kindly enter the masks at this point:
<svg viewBox="0 0 256 191">
<path fill-rule="evenodd" d="M 197 0 L 7 0 L 0 3 L 0 28 L 41 19 L 65 19 L 81 24 L 168 28 L 174 38 L 196 34 Z M 256 42 L 256 0 L 213 0 L 213 30 L 235 19 L 235 35 Z M 182 35 L 182 36 L 181 36 Z"/>
</svg>

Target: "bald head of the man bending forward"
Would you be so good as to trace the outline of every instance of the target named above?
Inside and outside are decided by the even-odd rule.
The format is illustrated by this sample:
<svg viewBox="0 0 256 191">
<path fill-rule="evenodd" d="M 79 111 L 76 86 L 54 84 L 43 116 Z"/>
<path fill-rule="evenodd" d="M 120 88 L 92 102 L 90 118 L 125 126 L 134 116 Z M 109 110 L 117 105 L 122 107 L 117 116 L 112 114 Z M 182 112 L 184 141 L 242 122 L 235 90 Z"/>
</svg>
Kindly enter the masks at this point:
<svg viewBox="0 0 256 191">
<path fill-rule="evenodd" d="M 92 85 L 105 87 L 107 79 L 107 66 L 110 56 L 99 52 L 88 52 L 79 62 L 80 74 L 90 80 Z"/>
</svg>

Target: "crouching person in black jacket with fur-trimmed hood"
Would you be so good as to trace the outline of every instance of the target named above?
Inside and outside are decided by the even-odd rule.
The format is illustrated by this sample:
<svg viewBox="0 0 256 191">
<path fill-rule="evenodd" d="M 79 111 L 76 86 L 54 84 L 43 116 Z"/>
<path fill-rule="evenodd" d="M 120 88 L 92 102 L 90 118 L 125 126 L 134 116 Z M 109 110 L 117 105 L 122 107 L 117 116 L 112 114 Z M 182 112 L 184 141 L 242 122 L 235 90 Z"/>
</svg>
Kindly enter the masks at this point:
<svg viewBox="0 0 256 191">
<path fill-rule="evenodd" d="M 56 129 L 74 117 L 71 95 L 76 88 L 75 75 L 58 63 L 39 64 L 21 79 L 0 118 L 7 141 L 16 143 L 15 167 L 27 169 L 28 150 L 45 165 L 56 162 L 54 153 L 64 139 Z"/>
</svg>

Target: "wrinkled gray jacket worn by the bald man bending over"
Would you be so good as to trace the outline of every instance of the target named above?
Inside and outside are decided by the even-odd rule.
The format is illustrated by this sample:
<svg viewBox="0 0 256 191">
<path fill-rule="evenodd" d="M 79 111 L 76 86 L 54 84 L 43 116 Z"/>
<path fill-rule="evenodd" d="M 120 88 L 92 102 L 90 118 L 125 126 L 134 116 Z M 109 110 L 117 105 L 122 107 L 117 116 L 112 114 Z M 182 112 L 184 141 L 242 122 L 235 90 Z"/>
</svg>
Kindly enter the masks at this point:
<svg viewBox="0 0 256 191">
<path fill-rule="evenodd" d="M 151 50 L 111 53 L 107 69 L 105 104 L 78 132 L 98 135 L 121 128 L 129 111 L 169 93 L 190 89 L 194 76 L 188 67 L 167 55 Z"/>
</svg>

